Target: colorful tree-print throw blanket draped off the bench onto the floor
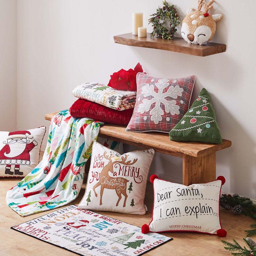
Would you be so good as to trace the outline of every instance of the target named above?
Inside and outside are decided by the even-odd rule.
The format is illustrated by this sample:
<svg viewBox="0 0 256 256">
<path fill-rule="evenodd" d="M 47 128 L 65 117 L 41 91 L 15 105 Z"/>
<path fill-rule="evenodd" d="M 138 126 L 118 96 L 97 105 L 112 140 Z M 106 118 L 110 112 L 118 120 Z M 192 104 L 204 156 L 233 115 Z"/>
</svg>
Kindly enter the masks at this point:
<svg viewBox="0 0 256 256">
<path fill-rule="evenodd" d="M 73 201 L 82 186 L 84 164 L 97 140 L 100 125 L 75 118 L 68 110 L 52 118 L 43 160 L 6 194 L 7 204 L 27 216 Z"/>
</svg>

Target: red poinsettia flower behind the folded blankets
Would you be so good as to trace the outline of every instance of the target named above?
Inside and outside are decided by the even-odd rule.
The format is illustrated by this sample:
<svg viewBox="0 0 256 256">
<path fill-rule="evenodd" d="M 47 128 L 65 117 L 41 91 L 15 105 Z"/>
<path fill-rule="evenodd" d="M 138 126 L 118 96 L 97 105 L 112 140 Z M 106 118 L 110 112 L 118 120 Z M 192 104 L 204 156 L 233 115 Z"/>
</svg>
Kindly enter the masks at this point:
<svg viewBox="0 0 256 256">
<path fill-rule="evenodd" d="M 140 63 L 136 65 L 134 70 L 130 68 L 126 71 L 122 68 L 110 76 L 111 79 L 109 80 L 108 86 L 117 90 L 137 91 L 136 75 L 139 72 L 143 72 Z"/>
</svg>

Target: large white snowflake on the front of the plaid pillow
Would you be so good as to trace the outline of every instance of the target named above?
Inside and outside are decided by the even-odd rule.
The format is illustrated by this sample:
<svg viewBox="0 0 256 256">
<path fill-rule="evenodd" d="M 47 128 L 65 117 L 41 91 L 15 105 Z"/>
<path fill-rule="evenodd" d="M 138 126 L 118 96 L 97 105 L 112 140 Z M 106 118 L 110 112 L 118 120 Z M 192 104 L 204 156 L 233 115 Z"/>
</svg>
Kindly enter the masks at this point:
<svg viewBox="0 0 256 256">
<path fill-rule="evenodd" d="M 178 96 L 182 95 L 183 88 L 180 88 L 179 85 L 170 86 L 168 79 L 159 79 L 155 85 L 158 88 L 158 92 L 155 92 L 155 86 L 153 84 L 146 84 L 141 88 L 141 93 L 144 94 L 144 97 L 151 96 L 151 99 L 143 99 L 142 103 L 139 105 L 138 112 L 141 114 L 148 112 L 155 103 L 155 106 L 150 110 L 149 114 L 151 115 L 150 120 L 158 124 L 163 120 L 162 116 L 164 115 L 161 103 L 164 105 L 166 113 L 170 113 L 172 116 L 180 114 L 180 106 L 176 105 L 176 100 L 166 100 L 166 98 L 171 97 L 172 99 L 177 99 Z M 164 89 L 168 86 L 168 90 L 164 92 Z"/>
</svg>

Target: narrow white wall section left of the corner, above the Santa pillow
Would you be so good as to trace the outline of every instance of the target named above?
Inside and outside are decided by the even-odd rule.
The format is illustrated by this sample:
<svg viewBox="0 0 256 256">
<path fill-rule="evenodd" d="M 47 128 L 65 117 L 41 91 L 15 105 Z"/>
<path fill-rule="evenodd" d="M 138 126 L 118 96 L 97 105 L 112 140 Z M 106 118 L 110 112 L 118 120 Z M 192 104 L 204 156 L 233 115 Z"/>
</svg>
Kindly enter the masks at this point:
<svg viewBox="0 0 256 256">
<path fill-rule="evenodd" d="M 0 0 L 0 131 L 16 129 L 16 0 Z"/>
</svg>

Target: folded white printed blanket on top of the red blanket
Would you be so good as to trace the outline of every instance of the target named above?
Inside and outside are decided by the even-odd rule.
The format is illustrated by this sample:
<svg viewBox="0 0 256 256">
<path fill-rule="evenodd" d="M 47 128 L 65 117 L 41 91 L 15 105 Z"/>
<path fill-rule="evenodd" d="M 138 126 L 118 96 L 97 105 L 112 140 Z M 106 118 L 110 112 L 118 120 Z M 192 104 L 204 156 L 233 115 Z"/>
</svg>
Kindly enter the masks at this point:
<svg viewBox="0 0 256 256">
<path fill-rule="evenodd" d="M 116 110 L 134 108 L 136 101 L 136 92 L 119 91 L 98 83 L 80 84 L 72 93 L 77 98 L 90 100 Z"/>
</svg>

